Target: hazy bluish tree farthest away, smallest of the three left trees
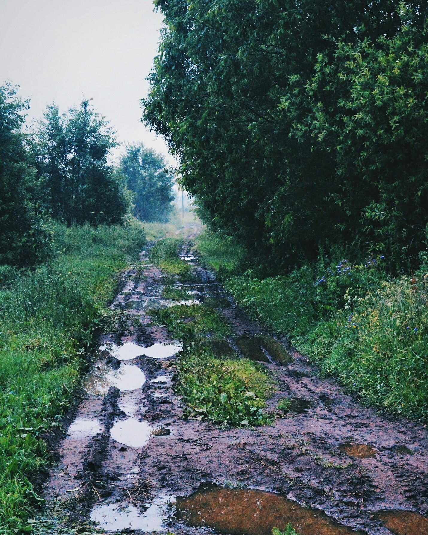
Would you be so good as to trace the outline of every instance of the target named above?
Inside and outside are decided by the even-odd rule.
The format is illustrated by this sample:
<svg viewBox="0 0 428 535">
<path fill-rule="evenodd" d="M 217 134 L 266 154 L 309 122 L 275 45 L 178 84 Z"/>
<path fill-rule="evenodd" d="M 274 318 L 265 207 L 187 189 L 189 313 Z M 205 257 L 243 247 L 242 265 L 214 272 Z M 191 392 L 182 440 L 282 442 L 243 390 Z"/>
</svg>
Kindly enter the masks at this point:
<svg viewBox="0 0 428 535">
<path fill-rule="evenodd" d="M 174 200 L 174 180 L 163 156 L 142 144 L 128 145 L 119 170 L 134 194 L 135 217 L 142 221 L 167 220 Z"/>
</svg>

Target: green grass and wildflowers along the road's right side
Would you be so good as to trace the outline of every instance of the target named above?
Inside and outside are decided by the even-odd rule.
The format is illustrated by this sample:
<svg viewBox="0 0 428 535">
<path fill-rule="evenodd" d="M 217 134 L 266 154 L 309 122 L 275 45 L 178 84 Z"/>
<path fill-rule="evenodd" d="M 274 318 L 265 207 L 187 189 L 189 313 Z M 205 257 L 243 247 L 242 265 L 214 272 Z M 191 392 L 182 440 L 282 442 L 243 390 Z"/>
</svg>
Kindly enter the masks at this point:
<svg viewBox="0 0 428 535">
<path fill-rule="evenodd" d="M 218 269 L 216 236 L 196 247 Z M 207 246 L 207 243 L 209 244 Z M 363 401 L 395 414 L 428 417 L 428 261 L 414 274 L 390 277 L 382 257 L 353 263 L 332 251 L 317 265 L 265 279 L 223 270 L 235 299 L 324 373 L 339 377 Z M 256 266 L 257 267 L 257 266 Z"/>
</svg>

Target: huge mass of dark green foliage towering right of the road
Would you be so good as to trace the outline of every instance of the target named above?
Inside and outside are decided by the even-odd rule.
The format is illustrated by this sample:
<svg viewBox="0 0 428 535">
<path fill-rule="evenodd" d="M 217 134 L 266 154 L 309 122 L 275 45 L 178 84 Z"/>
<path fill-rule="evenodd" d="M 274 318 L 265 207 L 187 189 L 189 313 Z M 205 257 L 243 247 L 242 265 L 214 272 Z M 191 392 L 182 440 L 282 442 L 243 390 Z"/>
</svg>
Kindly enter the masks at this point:
<svg viewBox="0 0 428 535">
<path fill-rule="evenodd" d="M 144 119 L 213 228 L 274 270 L 426 249 L 427 4 L 157 0 Z M 357 254 L 360 254 L 359 252 Z"/>
</svg>

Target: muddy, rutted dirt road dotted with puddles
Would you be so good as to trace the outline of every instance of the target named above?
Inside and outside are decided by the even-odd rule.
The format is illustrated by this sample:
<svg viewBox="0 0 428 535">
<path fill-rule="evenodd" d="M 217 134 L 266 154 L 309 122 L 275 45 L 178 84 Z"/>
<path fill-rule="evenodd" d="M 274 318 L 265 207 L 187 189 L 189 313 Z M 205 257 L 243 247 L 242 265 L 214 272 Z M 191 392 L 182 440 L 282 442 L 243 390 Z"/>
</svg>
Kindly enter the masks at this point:
<svg viewBox="0 0 428 535">
<path fill-rule="evenodd" d="M 293 351 L 292 362 L 275 360 L 261 347 L 269 335 L 263 326 L 219 299 L 227 296 L 188 248 L 181 256 L 196 277 L 186 283 L 192 301 L 223 303 L 218 310 L 241 340 L 236 349 L 262 361 L 276 381 L 268 410 L 278 417 L 253 429 L 182 419 L 173 389 L 180 340 L 147 311 L 177 303 L 162 297 L 166 282 L 185 283 L 167 279 L 143 250 L 143 276 L 125 273 L 112 305 L 132 326 L 101 340 L 86 398 L 45 485 L 47 510 L 61 526 L 268 535 L 291 522 L 305 535 L 426 535 L 426 427 L 362 407 Z M 291 407 L 280 414 L 284 396 Z"/>
</svg>

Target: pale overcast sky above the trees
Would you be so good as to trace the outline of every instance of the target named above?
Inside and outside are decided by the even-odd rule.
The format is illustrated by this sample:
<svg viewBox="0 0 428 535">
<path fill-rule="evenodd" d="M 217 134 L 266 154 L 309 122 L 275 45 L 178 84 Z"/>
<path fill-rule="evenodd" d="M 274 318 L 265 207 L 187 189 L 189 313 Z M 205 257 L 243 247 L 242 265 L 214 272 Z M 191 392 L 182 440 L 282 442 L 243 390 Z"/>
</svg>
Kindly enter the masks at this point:
<svg viewBox="0 0 428 535">
<path fill-rule="evenodd" d="M 0 0 L 0 84 L 18 84 L 36 119 L 93 97 L 119 141 L 166 155 L 140 121 L 161 26 L 151 0 Z"/>
</svg>

